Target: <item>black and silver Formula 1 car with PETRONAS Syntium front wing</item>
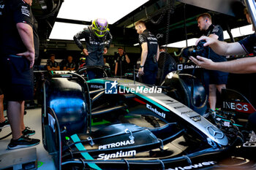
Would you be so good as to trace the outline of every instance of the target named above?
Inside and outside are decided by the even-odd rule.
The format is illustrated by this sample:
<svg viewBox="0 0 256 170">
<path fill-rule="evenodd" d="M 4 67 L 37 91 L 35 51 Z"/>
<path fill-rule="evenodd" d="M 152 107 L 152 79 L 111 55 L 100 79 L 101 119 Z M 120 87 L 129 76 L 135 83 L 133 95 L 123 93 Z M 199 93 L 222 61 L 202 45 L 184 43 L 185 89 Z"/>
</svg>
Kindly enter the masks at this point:
<svg viewBox="0 0 256 170">
<path fill-rule="evenodd" d="M 164 91 L 110 78 L 98 67 L 104 76 L 86 81 L 88 69 L 54 74 L 44 84 L 43 144 L 56 169 L 211 169 L 228 166 L 225 159 L 251 162 L 233 122 L 207 120 L 170 97 L 170 86 Z M 197 101 L 205 100 L 196 93 L 187 104 L 200 111 L 204 105 Z"/>
</svg>

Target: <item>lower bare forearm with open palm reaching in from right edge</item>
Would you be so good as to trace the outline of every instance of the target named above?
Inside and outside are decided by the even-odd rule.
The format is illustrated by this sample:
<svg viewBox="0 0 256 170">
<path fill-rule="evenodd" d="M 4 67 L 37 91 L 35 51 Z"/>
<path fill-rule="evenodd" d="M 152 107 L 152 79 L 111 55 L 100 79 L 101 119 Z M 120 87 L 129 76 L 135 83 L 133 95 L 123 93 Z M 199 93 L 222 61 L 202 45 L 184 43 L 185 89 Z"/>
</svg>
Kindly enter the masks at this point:
<svg viewBox="0 0 256 170">
<path fill-rule="evenodd" d="M 219 70 L 230 73 L 254 73 L 256 72 L 256 57 L 241 58 L 234 61 L 214 62 L 211 59 L 197 56 L 197 59 L 190 57 L 190 59 L 205 69 Z"/>
</svg>

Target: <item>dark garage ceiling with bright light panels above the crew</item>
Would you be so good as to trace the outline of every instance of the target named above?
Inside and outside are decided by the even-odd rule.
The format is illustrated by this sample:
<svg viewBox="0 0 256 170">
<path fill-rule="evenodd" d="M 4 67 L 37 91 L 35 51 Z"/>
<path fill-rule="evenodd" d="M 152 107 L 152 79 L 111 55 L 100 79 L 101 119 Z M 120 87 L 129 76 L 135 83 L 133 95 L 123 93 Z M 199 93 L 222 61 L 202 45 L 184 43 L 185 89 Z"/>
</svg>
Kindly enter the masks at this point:
<svg viewBox="0 0 256 170">
<path fill-rule="evenodd" d="M 73 3 L 76 4 L 77 7 L 67 5 L 67 7 L 70 7 L 70 9 L 68 9 L 64 6 L 64 3 L 68 4 L 70 1 L 74 2 L 78 0 L 65 0 L 64 2 L 61 0 L 41 0 L 35 1 L 33 4 L 34 15 L 36 15 L 39 21 L 41 47 L 45 47 L 45 45 L 47 46 L 49 43 L 60 42 L 59 40 L 47 41 L 55 22 L 73 23 L 84 26 L 90 25 L 91 20 L 97 18 L 97 15 L 92 16 L 90 14 L 97 14 L 97 10 L 102 10 L 102 8 L 99 7 L 105 7 L 104 3 L 106 2 L 113 3 L 111 6 L 113 8 L 110 9 L 106 7 L 107 10 L 103 13 L 105 14 L 105 18 L 112 23 L 110 25 L 110 32 L 113 34 L 113 44 L 117 46 L 132 47 L 134 44 L 138 43 L 138 35 L 133 27 L 133 23 L 137 20 L 146 21 L 148 29 L 157 35 L 161 45 L 165 45 L 166 42 L 178 42 L 184 39 L 199 37 L 201 33 L 197 28 L 196 18 L 203 12 L 209 12 L 213 17 L 213 23 L 219 24 L 224 30 L 247 25 L 246 18 L 243 14 L 244 7 L 240 1 L 235 0 L 143 0 L 133 6 L 130 11 L 127 11 L 127 15 L 123 17 L 121 17 L 119 10 L 126 9 L 128 4 L 135 4 L 137 0 L 133 2 L 130 0 L 90 1 L 93 4 L 81 4 L 81 2 L 79 2 Z M 85 0 L 81 1 L 89 2 Z M 125 4 L 127 2 L 129 3 Z M 230 4 L 230 2 L 232 2 L 232 4 Z M 50 12 L 53 12 L 53 10 L 58 7 L 58 4 L 60 4 L 59 6 L 63 5 L 62 7 L 67 8 L 70 12 L 62 12 L 61 9 L 48 16 L 48 18 L 43 18 L 49 15 Z M 45 7 L 47 8 L 45 9 Z M 79 17 L 71 18 L 71 15 L 74 14 L 71 9 L 78 11 Z M 89 9 L 91 9 L 90 12 Z M 89 12 L 87 15 L 91 18 L 86 19 L 87 15 L 81 14 L 80 12 L 82 11 Z M 168 12 L 170 12 L 169 26 L 167 26 Z M 115 17 L 110 17 L 110 15 Z M 102 15 L 99 17 L 101 16 Z M 159 21 L 159 23 L 155 24 L 156 21 Z M 61 40 L 61 43 L 73 44 L 74 42 Z"/>
</svg>

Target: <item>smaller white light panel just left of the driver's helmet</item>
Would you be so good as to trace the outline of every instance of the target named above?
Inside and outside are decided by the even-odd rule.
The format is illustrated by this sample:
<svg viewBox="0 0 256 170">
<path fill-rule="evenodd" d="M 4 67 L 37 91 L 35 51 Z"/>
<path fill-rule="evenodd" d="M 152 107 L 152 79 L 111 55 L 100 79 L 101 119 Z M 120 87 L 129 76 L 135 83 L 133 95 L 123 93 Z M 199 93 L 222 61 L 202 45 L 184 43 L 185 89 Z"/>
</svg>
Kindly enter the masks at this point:
<svg viewBox="0 0 256 170">
<path fill-rule="evenodd" d="M 82 24 L 55 22 L 49 39 L 73 40 L 73 36 L 85 27 Z"/>
</svg>

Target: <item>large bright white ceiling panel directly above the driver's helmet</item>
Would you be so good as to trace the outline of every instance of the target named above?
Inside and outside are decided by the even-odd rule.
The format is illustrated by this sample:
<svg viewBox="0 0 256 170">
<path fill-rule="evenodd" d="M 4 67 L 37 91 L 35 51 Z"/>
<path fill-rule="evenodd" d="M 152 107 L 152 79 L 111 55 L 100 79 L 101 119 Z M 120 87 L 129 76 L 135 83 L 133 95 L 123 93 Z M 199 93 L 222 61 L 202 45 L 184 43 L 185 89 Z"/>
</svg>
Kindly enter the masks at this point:
<svg viewBox="0 0 256 170">
<path fill-rule="evenodd" d="M 113 24 L 147 1 L 148 0 L 65 0 L 61 4 L 57 18 L 89 22 L 96 18 L 105 18 L 108 20 L 109 24 Z"/>
</svg>

